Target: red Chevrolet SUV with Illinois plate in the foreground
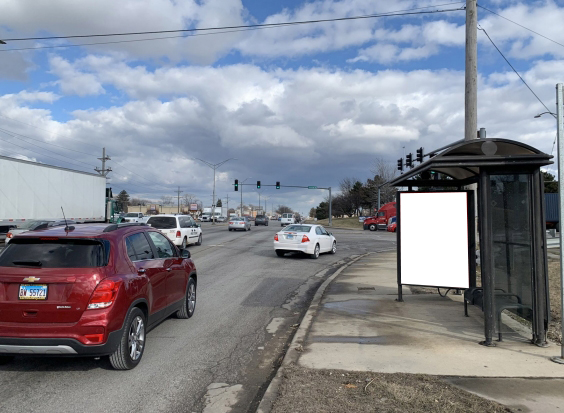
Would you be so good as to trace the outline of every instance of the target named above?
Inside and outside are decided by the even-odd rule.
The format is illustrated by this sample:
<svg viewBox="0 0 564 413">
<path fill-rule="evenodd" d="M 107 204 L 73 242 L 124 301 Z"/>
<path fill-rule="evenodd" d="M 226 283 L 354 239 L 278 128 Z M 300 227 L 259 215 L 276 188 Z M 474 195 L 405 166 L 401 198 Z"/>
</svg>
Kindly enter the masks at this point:
<svg viewBox="0 0 564 413">
<path fill-rule="evenodd" d="M 188 250 L 145 224 L 83 224 L 17 235 L 0 253 L 0 363 L 15 355 L 141 361 L 145 334 L 196 307 Z"/>
</svg>

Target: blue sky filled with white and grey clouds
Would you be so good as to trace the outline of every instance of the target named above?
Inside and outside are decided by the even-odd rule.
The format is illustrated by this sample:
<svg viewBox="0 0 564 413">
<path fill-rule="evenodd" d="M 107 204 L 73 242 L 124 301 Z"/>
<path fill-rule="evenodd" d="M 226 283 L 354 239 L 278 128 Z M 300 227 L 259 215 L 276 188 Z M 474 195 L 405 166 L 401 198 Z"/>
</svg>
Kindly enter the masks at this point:
<svg viewBox="0 0 564 413">
<path fill-rule="evenodd" d="M 114 192 L 158 199 L 180 186 L 204 204 L 211 204 L 213 171 L 194 158 L 236 158 L 218 169 L 222 198 L 238 198 L 233 180 L 247 177 L 253 185 L 333 188 L 344 177 L 364 181 L 376 159 L 395 167 L 404 151 L 432 150 L 464 137 L 464 4 L 3 0 L 0 39 L 445 12 L 6 40 L 0 45 L 0 154 L 92 171 L 106 147 Z M 564 2 L 479 5 L 496 13 L 479 8 L 480 27 L 555 111 L 555 85 L 564 82 Z M 533 118 L 546 109 L 482 31 L 478 71 L 478 127 L 489 138 L 553 153 L 554 119 Z M 269 209 L 286 204 L 299 212 L 327 195 L 263 189 Z M 244 202 L 258 204 L 254 186 L 245 187 Z"/>
</svg>

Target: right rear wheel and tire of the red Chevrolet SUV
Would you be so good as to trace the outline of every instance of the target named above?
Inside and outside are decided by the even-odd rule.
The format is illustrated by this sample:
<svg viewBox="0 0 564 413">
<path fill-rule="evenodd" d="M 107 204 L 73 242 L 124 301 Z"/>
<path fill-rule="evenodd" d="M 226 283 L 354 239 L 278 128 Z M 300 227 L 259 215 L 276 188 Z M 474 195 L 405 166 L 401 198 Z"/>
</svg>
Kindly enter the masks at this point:
<svg viewBox="0 0 564 413">
<path fill-rule="evenodd" d="M 123 334 L 116 351 L 110 355 L 110 364 L 116 370 L 131 370 L 137 367 L 145 351 L 145 314 L 137 307 L 129 310 Z M 141 349 L 139 350 L 139 346 Z M 135 348 L 134 348 L 135 347 Z M 131 356 L 134 353 L 134 356 Z"/>
</svg>

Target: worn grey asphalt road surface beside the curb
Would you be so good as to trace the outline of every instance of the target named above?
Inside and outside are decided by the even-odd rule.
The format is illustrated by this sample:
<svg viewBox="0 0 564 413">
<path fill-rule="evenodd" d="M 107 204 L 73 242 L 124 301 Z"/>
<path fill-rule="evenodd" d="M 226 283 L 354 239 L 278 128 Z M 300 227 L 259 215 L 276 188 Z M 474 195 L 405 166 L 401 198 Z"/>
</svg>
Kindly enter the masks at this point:
<svg viewBox="0 0 564 413">
<path fill-rule="evenodd" d="M 275 222 L 250 232 L 202 228 L 203 245 L 189 247 L 196 313 L 152 330 L 137 368 L 114 371 L 104 358 L 17 357 L 0 366 L 0 411 L 254 411 L 317 287 L 351 257 L 395 246 L 395 234 L 332 230 L 336 255 L 278 258 Z"/>
</svg>

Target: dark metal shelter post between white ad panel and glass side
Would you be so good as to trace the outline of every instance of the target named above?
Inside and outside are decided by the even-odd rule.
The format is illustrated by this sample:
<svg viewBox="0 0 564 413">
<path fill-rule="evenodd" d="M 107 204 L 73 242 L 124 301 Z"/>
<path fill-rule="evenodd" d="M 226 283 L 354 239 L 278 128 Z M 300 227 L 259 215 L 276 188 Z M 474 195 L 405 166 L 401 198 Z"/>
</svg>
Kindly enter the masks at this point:
<svg viewBox="0 0 564 413">
<path fill-rule="evenodd" d="M 480 342 L 485 346 L 495 346 L 492 337 L 495 333 L 495 301 L 494 289 L 495 279 L 493 272 L 492 251 L 488 248 L 491 242 L 491 211 L 490 206 L 484 200 L 489 199 L 489 176 L 483 170 L 480 171 L 480 258 L 482 264 L 482 288 L 484 300 L 484 335 L 485 340 Z"/>
</svg>

